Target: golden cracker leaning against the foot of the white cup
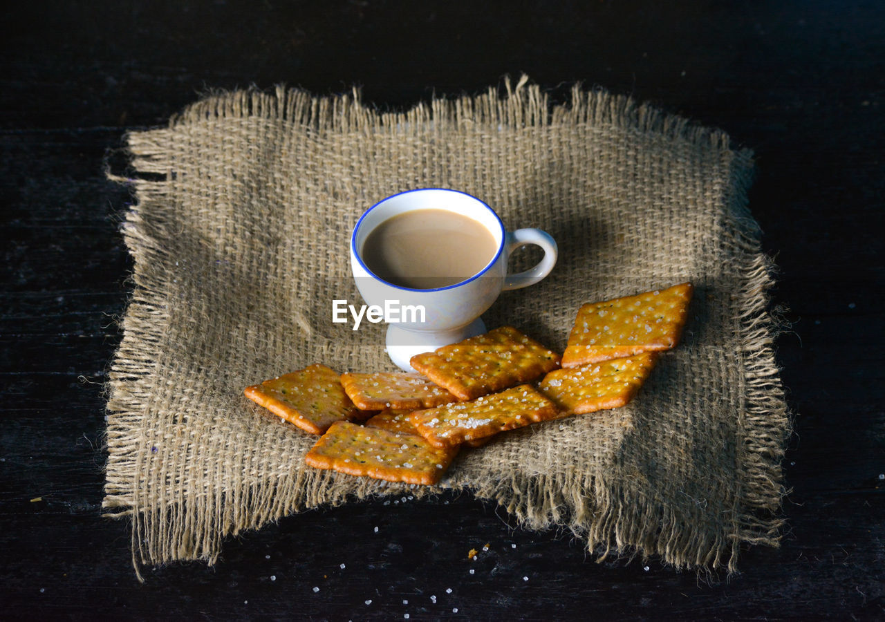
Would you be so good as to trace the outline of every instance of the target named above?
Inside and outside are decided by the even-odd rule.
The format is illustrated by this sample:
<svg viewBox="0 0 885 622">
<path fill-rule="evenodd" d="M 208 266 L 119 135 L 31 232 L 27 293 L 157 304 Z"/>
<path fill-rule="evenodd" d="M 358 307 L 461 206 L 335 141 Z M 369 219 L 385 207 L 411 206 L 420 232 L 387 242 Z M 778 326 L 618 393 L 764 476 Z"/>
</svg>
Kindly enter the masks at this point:
<svg viewBox="0 0 885 622">
<path fill-rule="evenodd" d="M 416 355 L 409 362 L 459 400 L 472 400 L 535 380 L 559 366 L 559 355 L 516 328 L 502 326 Z"/>
</svg>

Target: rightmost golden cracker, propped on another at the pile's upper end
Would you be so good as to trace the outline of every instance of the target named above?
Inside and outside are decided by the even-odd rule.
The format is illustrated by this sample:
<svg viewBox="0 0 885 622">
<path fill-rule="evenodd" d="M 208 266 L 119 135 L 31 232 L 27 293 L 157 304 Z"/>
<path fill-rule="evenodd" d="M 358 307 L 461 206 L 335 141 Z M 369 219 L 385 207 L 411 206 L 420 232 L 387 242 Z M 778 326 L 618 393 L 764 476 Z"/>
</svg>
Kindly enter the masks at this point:
<svg viewBox="0 0 885 622">
<path fill-rule="evenodd" d="M 673 348 L 688 317 L 691 283 L 585 304 L 578 311 L 563 367 Z"/>
</svg>

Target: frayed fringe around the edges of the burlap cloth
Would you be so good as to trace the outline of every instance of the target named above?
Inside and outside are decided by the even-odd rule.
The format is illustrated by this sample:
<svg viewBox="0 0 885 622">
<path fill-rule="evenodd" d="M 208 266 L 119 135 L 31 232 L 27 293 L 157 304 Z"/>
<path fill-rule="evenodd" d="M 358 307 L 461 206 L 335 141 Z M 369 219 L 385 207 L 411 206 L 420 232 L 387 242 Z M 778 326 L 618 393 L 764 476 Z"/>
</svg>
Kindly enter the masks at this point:
<svg viewBox="0 0 885 622">
<path fill-rule="evenodd" d="M 302 90 L 276 88 L 273 93 L 257 90 L 222 93 L 204 98 L 170 120 L 170 128 L 212 117 L 268 119 L 288 122 L 306 131 L 372 131 L 391 133 L 457 131 L 479 123 L 509 127 L 547 126 L 551 124 L 590 124 L 620 127 L 630 132 L 659 134 L 666 139 L 688 141 L 720 152 L 729 160 L 732 183 L 727 195 L 727 225 L 735 232 L 735 250 L 742 260 L 740 272 L 745 286 L 737 293 L 746 387 L 740 417 L 739 447 L 743 456 L 739 478 L 741 493 L 735 503 L 735 526 L 727 538 L 696 541 L 696 534 L 673 529 L 674 521 L 661 520 L 661 511 L 645 503 L 627 523 L 618 511 L 626 490 L 608 482 L 572 478 L 569 482 L 544 474 L 519 474 L 499 480 L 494 486 L 465 486 L 473 495 L 492 500 L 532 529 L 565 526 L 587 542 L 588 549 L 601 561 L 612 552 L 628 557 L 659 555 L 662 562 L 675 567 L 712 569 L 722 566 L 735 572 L 742 543 L 777 546 L 783 519 L 780 517 L 782 486 L 780 461 L 789 434 L 789 412 L 774 361 L 773 339 L 776 326 L 768 312 L 767 291 L 773 284 L 772 264 L 760 253 L 758 227 L 747 208 L 747 190 L 752 178 L 748 151 L 733 151 L 727 134 L 699 127 L 677 116 L 636 104 L 626 96 L 603 90 L 587 91 L 581 85 L 572 89 L 566 105 L 551 105 L 548 96 L 523 76 L 513 86 L 504 80 L 501 89 L 489 88 L 479 96 L 454 99 L 436 98 L 417 104 L 409 111 L 379 112 L 364 106 L 354 90 L 340 96 L 318 97 Z M 441 123 L 435 121 L 446 121 Z M 122 321 L 123 339 L 109 373 L 107 405 L 109 412 L 104 508 L 106 516 L 132 520 L 132 556 L 135 572 L 141 579 L 142 564 L 164 564 L 178 560 L 204 560 L 214 564 L 225 538 L 243 530 L 257 529 L 268 521 L 310 507 L 317 491 L 323 489 L 328 505 L 350 499 L 365 499 L 401 491 L 404 487 L 366 481 L 356 489 L 329 487 L 327 472 L 308 473 L 301 486 L 281 495 L 273 484 L 253 485 L 239 493 L 241 506 L 220 520 L 204 519 L 197 524 L 189 517 L 201 515 L 201 508 L 183 503 L 164 503 L 162 507 L 142 507 L 135 488 L 140 480 L 137 471 L 143 446 L 140 438 L 153 381 L 152 366 L 157 353 L 146 351 L 145 342 L 157 343 L 165 330 L 165 316 L 158 283 L 146 278 L 139 267 L 165 253 L 156 238 L 142 234 L 140 209 L 148 203 L 163 202 L 165 176 L 171 165 L 165 159 L 162 131 L 129 134 L 134 178 L 110 174 L 112 180 L 133 188 L 138 203 L 127 212 L 122 230 L 127 247 L 135 259 L 135 289 Z M 153 173 L 153 179 L 150 179 Z M 157 180 L 157 176 L 162 178 Z M 154 219 L 162 210 L 154 211 Z M 432 494 L 433 488 L 412 488 L 412 494 Z M 330 494 L 331 493 L 331 494 Z M 219 493 L 222 497 L 223 493 Z M 330 500 L 331 498 L 331 500 Z M 223 498 L 204 500 L 223 506 Z M 215 507 L 219 507 L 216 505 Z M 666 510 L 665 510 L 666 511 Z M 662 531 L 661 525 L 671 526 Z M 183 527 L 182 527 L 183 526 Z"/>
</svg>

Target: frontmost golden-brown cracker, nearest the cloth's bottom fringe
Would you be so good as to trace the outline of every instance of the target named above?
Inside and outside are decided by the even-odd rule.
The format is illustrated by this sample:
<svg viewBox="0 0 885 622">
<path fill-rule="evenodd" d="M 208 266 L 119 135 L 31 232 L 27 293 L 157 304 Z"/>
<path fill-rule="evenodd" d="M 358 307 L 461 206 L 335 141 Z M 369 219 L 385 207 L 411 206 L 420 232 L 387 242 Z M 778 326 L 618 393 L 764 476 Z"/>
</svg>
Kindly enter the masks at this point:
<svg viewBox="0 0 885 622">
<path fill-rule="evenodd" d="M 335 422 L 304 456 L 307 465 L 376 480 L 435 484 L 458 448 L 438 448 L 417 434 Z"/>
</svg>

